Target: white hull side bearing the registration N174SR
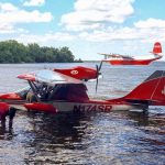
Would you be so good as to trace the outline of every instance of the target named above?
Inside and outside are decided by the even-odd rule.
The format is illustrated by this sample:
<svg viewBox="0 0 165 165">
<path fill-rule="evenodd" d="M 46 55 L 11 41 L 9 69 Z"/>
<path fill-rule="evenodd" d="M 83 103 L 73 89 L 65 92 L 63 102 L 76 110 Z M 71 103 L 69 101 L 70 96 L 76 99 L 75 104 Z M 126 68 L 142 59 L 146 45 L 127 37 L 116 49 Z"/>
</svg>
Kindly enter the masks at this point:
<svg viewBox="0 0 165 165">
<path fill-rule="evenodd" d="M 108 105 L 108 103 L 81 103 L 81 102 L 53 102 L 58 112 L 67 111 L 102 111 L 130 110 L 134 106 L 129 105 Z"/>
</svg>

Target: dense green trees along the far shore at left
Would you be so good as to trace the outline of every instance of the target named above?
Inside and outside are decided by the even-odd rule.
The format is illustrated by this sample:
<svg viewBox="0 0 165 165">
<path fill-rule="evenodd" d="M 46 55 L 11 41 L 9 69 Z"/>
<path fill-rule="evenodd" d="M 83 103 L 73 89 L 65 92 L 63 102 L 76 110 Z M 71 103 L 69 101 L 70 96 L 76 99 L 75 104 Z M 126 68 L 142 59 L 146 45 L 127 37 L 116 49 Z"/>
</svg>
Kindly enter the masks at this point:
<svg viewBox="0 0 165 165">
<path fill-rule="evenodd" d="M 68 47 L 47 47 L 36 43 L 24 45 L 14 40 L 0 42 L 0 63 L 73 63 Z"/>
</svg>

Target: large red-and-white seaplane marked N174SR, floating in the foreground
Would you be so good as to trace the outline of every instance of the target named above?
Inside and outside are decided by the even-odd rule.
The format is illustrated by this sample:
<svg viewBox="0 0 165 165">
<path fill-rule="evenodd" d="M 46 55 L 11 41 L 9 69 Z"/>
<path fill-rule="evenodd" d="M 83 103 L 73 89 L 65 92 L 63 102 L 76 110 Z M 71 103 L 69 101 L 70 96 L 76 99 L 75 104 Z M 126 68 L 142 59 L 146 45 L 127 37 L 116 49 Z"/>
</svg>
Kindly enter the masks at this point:
<svg viewBox="0 0 165 165">
<path fill-rule="evenodd" d="M 63 72 L 63 73 L 62 73 Z M 75 67 L 70 69 L 38 70 L 19 75 L 29 87 L 12 94 L 0 95 L 0 101 L 10 107 L 41 112 L 91 112 L 142 109 L 165 106 L 165 70 L 157 70 L 134 90 L 122 98 L 92 100 L 87 95 L 84 80 L 98 79 L 99 68 Z M 98 80 L 97 80 L 98 81 Z"/>
</svg>

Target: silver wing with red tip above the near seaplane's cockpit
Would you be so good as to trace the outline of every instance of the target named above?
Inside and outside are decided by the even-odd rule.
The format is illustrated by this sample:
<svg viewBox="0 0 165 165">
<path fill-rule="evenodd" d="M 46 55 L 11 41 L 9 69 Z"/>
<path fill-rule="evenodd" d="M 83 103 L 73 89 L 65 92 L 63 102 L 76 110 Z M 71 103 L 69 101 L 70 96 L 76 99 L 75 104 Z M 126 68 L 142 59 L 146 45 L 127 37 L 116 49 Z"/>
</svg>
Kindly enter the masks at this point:
<svg viewBox="0 0 165 165">
<path fill-rule="evenodd" d="M 30 80 L 30 81 L 37 81 L 37 82 L 45 82 L 45 84 L 82 84 L 81 80 L 66 76 L 64 74 L 48 70 L 48 69 L 43 69 L 43 70 L 37 70 L 33 72 L 30 74 L 23 74 L 19 75 L 18 78 L 24 79 L 24 80 Z"/>
</svg>

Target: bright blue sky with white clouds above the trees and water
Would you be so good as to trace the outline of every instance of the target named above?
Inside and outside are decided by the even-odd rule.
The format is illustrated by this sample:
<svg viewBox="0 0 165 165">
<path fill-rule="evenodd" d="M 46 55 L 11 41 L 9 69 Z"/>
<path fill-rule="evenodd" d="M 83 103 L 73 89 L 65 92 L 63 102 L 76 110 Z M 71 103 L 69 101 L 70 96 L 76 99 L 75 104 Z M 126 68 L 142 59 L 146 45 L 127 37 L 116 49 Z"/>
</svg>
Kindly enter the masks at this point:
<svg viewBox="0 0 165 165">
<path fill-rule="evenodd" d="M 165 50 L 164 10 L 165 0 L 0 0 L 0 41 L 68 46 L 84 61 L 146 56 L 155 42 Z"/>
</svg>

